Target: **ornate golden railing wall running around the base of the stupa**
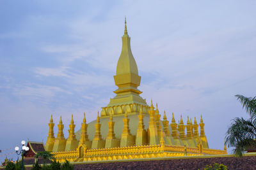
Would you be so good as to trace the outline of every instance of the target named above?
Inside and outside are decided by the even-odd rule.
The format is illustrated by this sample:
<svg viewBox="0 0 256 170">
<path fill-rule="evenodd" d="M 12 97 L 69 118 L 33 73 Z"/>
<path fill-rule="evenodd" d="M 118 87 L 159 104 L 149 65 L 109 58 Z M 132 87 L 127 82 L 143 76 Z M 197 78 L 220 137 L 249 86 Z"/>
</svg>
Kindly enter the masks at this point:
<svg viewBox="0 0 256 170">
<path fill-rule="evenodd" d="M 79 153 L 83 152 L 83 153 Z M 84 149 L 67 152 L 52 152 L 56 160 L 60 162 L 66 159 L 70 162 L 113 160 L 113 159 L 140 159 L 157 157 L 182 157 L 196 155 L 221 155 L 227 154 L 226 150 L 213 150 L 200 147 L 185 147 L 173 145 L 144 145 L 127 146 L 118 148 Z M 82 156 L 81 156 L 82 155 Z"/>
</svg>

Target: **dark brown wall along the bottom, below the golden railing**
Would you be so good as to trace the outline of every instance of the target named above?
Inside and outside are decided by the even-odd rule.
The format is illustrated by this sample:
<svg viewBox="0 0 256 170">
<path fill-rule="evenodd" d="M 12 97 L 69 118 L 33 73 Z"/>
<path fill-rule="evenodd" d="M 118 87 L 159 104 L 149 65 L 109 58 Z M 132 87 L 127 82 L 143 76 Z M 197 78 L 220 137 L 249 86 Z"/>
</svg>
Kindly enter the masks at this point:
<svg viewBox="0 0 256 170">
<path fill-rule="evenodd" d="M 196 159 L 166 159 L 98 164 L 75 164 L 74 169 L 204 169 L 209 164 L 225 164 L 228 169 L 256 169 L 256 156 L 205 157 Z"/>
</svg>

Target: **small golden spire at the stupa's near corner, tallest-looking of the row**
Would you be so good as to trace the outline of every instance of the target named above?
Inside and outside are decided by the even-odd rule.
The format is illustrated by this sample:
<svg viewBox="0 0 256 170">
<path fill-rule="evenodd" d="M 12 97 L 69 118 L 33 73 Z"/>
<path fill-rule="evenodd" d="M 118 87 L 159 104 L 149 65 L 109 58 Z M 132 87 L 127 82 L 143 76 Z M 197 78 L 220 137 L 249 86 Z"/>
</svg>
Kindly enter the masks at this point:
<svg viewBox="0 0 256 170">
<path fill-rule="evenodd" d="M 155 121 L 155 111 L 154 111 L 152 100 L 151 100 L 150 110 L 148 111 L 148 113 L 149 113 L 148 143 L 150 145 L 158 145 L 159 138 L 158 138 L 157 125 Z"/>
</svg>

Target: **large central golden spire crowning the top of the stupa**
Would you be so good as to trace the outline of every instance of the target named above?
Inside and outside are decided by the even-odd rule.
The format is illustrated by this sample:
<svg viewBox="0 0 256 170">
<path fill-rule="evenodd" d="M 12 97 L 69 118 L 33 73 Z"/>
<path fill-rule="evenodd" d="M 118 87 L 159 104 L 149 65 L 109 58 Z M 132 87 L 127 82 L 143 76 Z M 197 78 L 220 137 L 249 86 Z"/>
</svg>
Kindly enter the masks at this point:
<svg viewBox="0 0 256 170">
<path fill-rule="evenodd" d="M 145 99 L 140 97 L 142 92 L 137 89 L 137 87 L 140 86 L 141 76 L 138 75 L 138 67 L 132 55 L 130 41 L 131 38 L 127 34 L 125 18 L 125 31 L 124 36 L 122 36 L 122 52 L 118 59 L 116 75 L 114 76 L 115 84 L 118 89 L 114 91 L 116 96 L 110 99 L 107 107 L 122 104 L 143 104 L 147 106 Z M 101 116 L 109 116 L 109 113 L 102 110 Z"/>
</svg>

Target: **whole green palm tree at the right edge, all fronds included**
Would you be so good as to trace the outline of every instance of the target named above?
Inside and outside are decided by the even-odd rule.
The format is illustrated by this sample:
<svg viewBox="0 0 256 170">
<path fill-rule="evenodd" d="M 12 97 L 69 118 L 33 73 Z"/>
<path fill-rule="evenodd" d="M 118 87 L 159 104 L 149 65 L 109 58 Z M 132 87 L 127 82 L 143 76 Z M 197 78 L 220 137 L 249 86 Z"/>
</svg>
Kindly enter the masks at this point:
<svg viewBox="0 0 256 170">
<path fill-rule="evenodd" d="M 250 115 L 248 120 L 234 118 L 226 134 L 226 144 L 234 147 L 234 154 L 241 157 L 248 148 L 256 148 L 256 96 L 236 95 L 237 100 Z"/>
</svg>

